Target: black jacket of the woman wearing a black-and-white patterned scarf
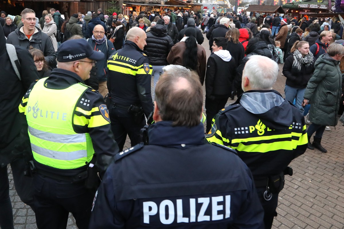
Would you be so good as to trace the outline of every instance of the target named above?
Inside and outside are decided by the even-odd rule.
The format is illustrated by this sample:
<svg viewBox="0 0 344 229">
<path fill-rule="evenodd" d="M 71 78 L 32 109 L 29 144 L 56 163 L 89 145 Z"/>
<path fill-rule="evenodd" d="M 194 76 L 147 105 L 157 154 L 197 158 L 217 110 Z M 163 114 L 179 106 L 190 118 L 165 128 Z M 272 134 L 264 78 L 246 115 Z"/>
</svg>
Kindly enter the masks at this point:
<svg viewBox="0 0 344 229">
<path fill-rule="evenodd" d="M 293 88 L 306 88 L 309 79 L 313 75 L 314 71 L 314 62 L 310 67 L 306 67 L 305 65 L 301 65 L 301 70 L 298 71 L 297 69 L 292 68 L 294 62 L 293 54 L 287 57 L 286 61 L 284 62 L 283 66 L 283 75 L 287 78 L 286 84 Z"/>
</svg>

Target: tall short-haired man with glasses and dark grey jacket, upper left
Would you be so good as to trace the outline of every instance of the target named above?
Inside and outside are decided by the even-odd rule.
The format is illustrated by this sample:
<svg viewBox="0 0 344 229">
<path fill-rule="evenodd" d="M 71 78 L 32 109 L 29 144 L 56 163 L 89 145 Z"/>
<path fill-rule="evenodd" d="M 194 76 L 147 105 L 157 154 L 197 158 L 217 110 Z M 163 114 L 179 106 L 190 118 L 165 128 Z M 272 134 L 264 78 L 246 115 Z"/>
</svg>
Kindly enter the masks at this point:
<svg viewBox="0 0 344 229">
<path fill-rule="evenodd" d="M 6 42 L 12 45 L 22 46 L 29 49 L 30 46 L 40 49 L 44 58 L 47 61 L 47 65 L 52 68 L 56 67 L 56 54 L 53 43 L 48 35 L 43 33 L 38 27 L 36 27 L 36 14 L 31 9 L 24 9 L 21 12 L 23 26 L 18 27 L 14 32 L 10 33 Z"/>
</svg>

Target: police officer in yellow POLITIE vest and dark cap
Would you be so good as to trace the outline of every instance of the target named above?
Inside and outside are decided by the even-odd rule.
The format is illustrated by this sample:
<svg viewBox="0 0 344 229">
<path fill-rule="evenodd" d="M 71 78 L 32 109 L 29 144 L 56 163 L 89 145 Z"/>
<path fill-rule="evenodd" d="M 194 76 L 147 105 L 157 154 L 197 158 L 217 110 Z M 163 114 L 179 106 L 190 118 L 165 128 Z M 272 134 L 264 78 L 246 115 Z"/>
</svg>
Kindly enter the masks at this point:
<svg viewBox="0 0 344 229">
<path fill-rule="evenodd" d="M 84 84 L 104 54 L 84 39 L 64 42 L 58 68 L 34 82 L 19 111 L 29 126 L 34 175 L 34 204 L 39 229 L 66 228 L 68 213 L 79 229 L 88 228 L 97 180 L 118 152 L 103 96 Z M 93 179 L 92 179 L 93 177 Z"/>
</svg>

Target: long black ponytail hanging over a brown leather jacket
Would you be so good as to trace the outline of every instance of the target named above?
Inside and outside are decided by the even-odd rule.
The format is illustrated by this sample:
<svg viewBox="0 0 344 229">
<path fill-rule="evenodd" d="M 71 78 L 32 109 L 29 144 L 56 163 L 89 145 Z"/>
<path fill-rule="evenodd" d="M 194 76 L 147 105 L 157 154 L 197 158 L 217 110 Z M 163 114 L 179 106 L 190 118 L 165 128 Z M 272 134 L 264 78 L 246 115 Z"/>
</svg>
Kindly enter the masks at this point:
<svg viewBox="0 0 344 229">
<path fill-rule="evenodd" d="M 185 41 L 186 48 L 183 53 L 183 65 L 186 68 L 196 70 L 198 58 L 195 28 L 186 28 L 185 36 L 189 38 Z"/>
</svg>

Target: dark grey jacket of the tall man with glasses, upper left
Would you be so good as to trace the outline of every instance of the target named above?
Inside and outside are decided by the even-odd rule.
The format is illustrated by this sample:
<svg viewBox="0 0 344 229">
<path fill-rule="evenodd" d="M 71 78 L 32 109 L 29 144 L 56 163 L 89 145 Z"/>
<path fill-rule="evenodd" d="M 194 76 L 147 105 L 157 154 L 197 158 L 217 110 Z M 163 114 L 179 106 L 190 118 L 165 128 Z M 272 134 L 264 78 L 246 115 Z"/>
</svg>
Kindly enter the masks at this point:
<svg viewBox="0 0 344 229">
<path fill-rule="evenodd" d="M 12 45 L 19 45 L 26 49 L 30 46 L 41 50 L 48 65 L 56 63 L 56 53 L 53 43 L 51 43 L 48 35 L 43 33 L 39 28 L 35 27 L 35 32 L 30 37 L 30 40 L 23 32 L 23 26 L 17 28 L 14 32 L 10 33 L 6 42 Z"/>
</svg>

